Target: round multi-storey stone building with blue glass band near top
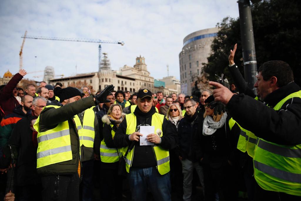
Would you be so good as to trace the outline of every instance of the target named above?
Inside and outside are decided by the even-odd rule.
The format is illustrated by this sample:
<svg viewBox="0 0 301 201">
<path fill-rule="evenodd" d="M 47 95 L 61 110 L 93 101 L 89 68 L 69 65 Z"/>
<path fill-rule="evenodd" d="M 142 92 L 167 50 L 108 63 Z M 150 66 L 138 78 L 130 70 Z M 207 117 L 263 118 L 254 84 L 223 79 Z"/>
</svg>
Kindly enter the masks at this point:
<svg viewBox="0 0 301 201">
<path fill-rule="evenodd" d="M 194 86 L 192 77 L 201 74 L 202 63 L 207 63 L 211 43 L 218 31 L 218 28 L 203 29 L 184 38 L 179 63 L 181 92 L 185 95 L 191 95 L 191 89 Z"/>
</svg>

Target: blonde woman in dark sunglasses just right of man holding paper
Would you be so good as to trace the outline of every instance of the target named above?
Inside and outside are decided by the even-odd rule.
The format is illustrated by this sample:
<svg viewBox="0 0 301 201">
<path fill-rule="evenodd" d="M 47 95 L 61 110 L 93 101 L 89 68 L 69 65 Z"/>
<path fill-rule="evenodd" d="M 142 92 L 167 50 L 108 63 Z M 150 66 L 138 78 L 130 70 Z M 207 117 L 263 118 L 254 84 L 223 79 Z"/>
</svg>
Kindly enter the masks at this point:
<svg viewBox="0 0 301 201">
<path fill-rule="evenodd" d="M 170 123 L 175 127 L 178 131 L 178 124 L 180 120 L 183 118 L 182 110 L 179 104 L 171 104 L 166 113 L 166 119 L 170 121 Z M 182 179 L 182 164 L 179 160 L 179 150 L 178 147 L 169 150 L 170 157 L 170 183 L 172 192 L 176 192 L 178 198 L 182 198 L 183 196 L 183 179 Z"/>
</svg>

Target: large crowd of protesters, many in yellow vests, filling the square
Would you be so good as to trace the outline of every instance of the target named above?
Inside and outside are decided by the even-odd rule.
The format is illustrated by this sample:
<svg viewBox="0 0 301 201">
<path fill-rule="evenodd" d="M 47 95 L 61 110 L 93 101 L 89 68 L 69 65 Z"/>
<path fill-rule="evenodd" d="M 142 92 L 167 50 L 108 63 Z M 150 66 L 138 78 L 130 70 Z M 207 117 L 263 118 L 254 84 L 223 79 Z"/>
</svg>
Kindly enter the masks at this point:
<svg viewBox="0 0 301 201">
<path fill-rule="evenodd" d="M 4 200 L 301 199 L 301 91 L 290 66 L 268 61 L 247 87 L 165 95 L 92 94 L 45 82 L 0 86 L 0 193 Z M 131 193 L 125 193 L 129 190 Z M 173 195 L 173 196 L 172 196 Z"/>
</svg>

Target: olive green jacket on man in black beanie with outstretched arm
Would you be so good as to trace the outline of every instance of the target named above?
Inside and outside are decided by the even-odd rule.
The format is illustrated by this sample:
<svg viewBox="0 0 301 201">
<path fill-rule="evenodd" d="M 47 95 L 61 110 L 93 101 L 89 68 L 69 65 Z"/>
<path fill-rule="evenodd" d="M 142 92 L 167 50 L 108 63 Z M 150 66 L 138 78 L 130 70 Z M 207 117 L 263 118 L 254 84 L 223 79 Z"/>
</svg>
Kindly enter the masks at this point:
<svg viewBox="0 0 301 201">
<path fill-rule="evenodd" d="M 37 168 L 37 173 L 42 175 L 50 174 L 75 174 L 78 170 L 80 162 L 79 155 L 79 136 L 75 123 L 73 121 L 74 115 L 81 113 L 82 111 L 95 106 L 93 96 L 89 96 L 80 99 L 76 102 L 72 102 L 66 105 L 61 105 L 58 101 L 52 101 L 51 105 L 62 106 L 60 108 L 44 108 L 40 114 L 39 130 L 45 132 L 57 126 L 60 122 L 68 121 L 70 140 L 71 140 L 71 151 L 72 160 L 59 162 L 51 165 L 47 165 L 41 168 Z"/>
</svg>

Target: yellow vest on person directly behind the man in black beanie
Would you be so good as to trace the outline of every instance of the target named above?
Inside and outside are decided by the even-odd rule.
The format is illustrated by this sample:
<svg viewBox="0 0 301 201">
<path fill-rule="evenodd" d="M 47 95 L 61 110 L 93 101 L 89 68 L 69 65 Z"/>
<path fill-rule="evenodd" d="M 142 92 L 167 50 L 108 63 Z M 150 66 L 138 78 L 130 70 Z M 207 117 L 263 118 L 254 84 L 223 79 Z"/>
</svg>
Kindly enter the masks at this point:
<svg viewBox="0 0 301 201">
<path fill-rule="evenodd" d="M 94 111 L 91 108 L 86 109 L 82 120 L 82 129 L 78 132 L 80 146 L 93 148 L 95 138 L 94 120 Z"/>
</svg>

